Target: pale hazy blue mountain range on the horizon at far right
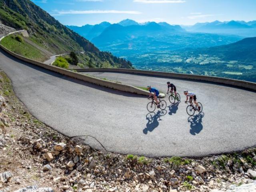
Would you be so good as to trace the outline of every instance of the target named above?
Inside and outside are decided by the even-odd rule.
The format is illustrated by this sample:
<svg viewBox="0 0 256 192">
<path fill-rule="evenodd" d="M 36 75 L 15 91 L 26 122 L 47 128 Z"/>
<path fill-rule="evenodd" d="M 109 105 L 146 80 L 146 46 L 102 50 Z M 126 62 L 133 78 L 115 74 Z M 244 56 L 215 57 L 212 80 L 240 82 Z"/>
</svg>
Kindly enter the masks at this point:
<svg viewBox="0 0 256 192">
<path fill-rule="evenodd" d="M 244 37 L 256 36 L 256 21 L 226 21 L 196 23 L 193 26 L 182 26 L 190 32 L 204 32 L 214 34 L 234 34 Z"/>
</svg>

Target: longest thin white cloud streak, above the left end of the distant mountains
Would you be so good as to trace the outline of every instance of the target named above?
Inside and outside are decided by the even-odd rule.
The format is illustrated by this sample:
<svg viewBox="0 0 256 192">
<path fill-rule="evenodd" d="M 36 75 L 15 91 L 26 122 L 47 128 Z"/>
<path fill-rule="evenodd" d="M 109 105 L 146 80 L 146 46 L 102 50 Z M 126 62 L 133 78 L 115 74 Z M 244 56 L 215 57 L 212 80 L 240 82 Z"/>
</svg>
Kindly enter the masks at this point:
<svg viewBox="0 0 256 192">
<path fill-rule="evenodd" d="M 58 11 L 55 10 L 55 13 L 52 15 L 65 15 L 65 14 L 141 14 L 141 12 L 138 11 L 119 11 L 119 10 L 68 10 L 68 11 Z"/>
</svg>

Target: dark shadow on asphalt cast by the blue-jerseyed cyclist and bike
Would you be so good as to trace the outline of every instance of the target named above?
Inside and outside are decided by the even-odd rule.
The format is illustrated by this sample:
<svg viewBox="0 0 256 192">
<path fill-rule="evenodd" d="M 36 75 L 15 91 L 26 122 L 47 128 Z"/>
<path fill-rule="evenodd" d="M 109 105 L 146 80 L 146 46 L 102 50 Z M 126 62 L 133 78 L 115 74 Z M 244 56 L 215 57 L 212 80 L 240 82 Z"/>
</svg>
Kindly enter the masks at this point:
<svg viewBox="0 0 256 192">
<path fill-rule="evenodd" d="M 146 120 L 148 120 L 146 124 L 146 128 L 143 129 L 144 134 L 148 134 L 148 132 L 152 132 L 155 128 L 158 127 L 159 121 L 161 121 L 161 117 L 166 115 L 166 110 L 161 110 L 156 113 L 151 112 L 146 115 Z"/>
</svg>

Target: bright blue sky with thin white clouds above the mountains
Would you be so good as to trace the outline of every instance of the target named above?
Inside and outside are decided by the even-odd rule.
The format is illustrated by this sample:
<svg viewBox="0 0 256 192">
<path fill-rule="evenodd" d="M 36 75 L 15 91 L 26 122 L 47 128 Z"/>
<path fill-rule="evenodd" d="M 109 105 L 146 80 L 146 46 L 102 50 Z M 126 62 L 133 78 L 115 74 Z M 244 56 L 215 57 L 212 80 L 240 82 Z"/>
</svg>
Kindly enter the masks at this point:
<svg viewBox="0 0 256 192">
<path fill-rule="evenodd" d="M 32 0 L 64 25 L 126 18 L 191 25 L 214 20 L 256 20 L 256 0 Z"/>
</svg>

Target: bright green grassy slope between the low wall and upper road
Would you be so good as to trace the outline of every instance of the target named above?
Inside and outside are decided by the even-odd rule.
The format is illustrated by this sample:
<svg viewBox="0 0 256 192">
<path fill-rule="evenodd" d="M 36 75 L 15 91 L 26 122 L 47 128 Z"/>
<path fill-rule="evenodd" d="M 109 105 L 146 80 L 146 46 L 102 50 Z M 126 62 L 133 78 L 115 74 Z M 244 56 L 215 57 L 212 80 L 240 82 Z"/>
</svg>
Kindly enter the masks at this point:
<svg viewBox="0 0 256 192">
<path fill-rule="evenodd" d="M 12 52 L 24 56 L 26 58 L 30 58 L 37 61 L 44 61 L 47 59 L 47 57 L 44 56 L 40 52 L 40 50 L 25 42 L 23 38 L 19 35 L 9 35 L 3 38 L 1 44 L 8 50 L 11 50 Z"/>
</svg>

